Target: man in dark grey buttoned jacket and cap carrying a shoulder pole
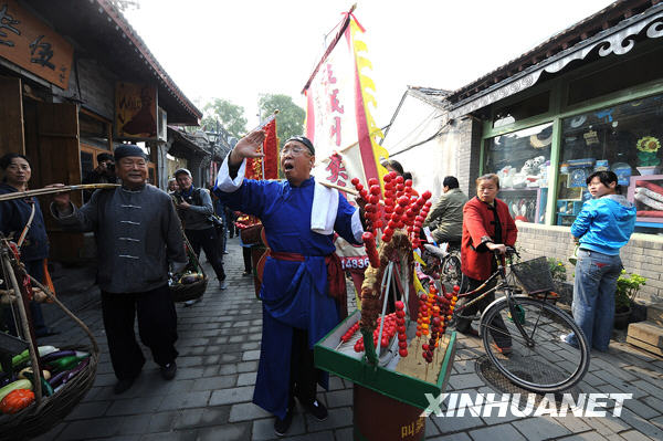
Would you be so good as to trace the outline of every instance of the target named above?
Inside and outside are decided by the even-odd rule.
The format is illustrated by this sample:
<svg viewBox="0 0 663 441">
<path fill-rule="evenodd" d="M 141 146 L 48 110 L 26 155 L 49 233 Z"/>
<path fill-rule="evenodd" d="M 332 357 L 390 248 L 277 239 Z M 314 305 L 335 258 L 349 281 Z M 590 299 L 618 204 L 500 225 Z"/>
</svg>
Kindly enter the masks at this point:
<svg viewBox="0 0 663 441">
<path fill-rule="evenodd" d="M 168 291 L 168 262 L 179 272 L 187 264 L 179 219 L 170 197 L 147 182 L 147 158 L 134 145 L 115 149 L 122 187 L 97 190 L 76 209 L 69 193 L 54 197 L 51 212 L 76 231 L 94 231 L 97 243 L 102 313 L 110 361 L 118 381 L 115 393 L 129 389 L 145 364 L 136 342 L 150 348 L 166 380 L 177 372 L 177 313 Z M 57 187 L 54 185 L 50 187 Z"/>
</svg>

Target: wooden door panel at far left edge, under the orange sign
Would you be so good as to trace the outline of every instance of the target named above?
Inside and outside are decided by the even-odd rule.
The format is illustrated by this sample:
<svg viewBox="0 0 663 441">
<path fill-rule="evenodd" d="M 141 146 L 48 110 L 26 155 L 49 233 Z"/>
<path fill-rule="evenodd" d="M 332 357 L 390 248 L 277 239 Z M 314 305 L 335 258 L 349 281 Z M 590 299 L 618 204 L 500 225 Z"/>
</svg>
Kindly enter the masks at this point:
<svg viewBox="0 0 663 441">
<path fill-rule="evenodd" d="M 0 156 L 25 155 L 21 80 L 0 76 Z"/>
</svg>

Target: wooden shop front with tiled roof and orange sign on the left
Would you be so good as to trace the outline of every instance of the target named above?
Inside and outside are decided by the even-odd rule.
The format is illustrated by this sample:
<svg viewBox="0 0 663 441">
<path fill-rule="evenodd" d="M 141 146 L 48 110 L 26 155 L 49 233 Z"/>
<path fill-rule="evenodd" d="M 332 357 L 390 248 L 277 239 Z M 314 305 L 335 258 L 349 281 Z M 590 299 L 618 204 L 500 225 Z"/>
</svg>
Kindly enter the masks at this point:
<svg viewBox="0 0 663 441">
<path fill-rule="evenodd" d="M 145 143 L 164 188 L 167 125 L 201 117 L 107 0 L 0 0 L 0 155 L 30 158 L 31 188 L 80 183 L 123 141 Z M 46 222 L 52 258 L 81 258 L 83 237 Z"/>
</svg>

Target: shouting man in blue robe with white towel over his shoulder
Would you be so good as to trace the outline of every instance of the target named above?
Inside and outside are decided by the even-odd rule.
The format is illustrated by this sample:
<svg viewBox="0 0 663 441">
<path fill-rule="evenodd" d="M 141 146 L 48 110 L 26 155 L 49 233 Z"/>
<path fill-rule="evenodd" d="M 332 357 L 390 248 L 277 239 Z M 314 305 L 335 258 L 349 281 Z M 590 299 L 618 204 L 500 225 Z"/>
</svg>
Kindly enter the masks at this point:
<svg viewBox="0 0 663 441">
<path fill-rule="evenodd" d="M 343 305 L 328 287 L 330 280 L 345 290 L 343 272 L 336 272 L 334 231 L 359 244 L 364 229 L 359 211 L 311 176 L 315 149 L 305 137 L 283 146 L 280 164 L 286 181 L 244 179 L 245 159 L 262 156 L 257 148 L 263 139 L 264 133 L 256 130 L 236 144 L 221 166 L 214 192 L 231 209 L 259 217 L 265 229 L 270 254 L 260 292 L 263 333 L 253 402 L 276 416 L 274 430 L 283 435 L 295 397 L 318 420 L 327 418 L 315 392 L 317 382 L 328 387 L 328 375 L 315 369 L 313 346 L 341 314 Z"/>
</svg>

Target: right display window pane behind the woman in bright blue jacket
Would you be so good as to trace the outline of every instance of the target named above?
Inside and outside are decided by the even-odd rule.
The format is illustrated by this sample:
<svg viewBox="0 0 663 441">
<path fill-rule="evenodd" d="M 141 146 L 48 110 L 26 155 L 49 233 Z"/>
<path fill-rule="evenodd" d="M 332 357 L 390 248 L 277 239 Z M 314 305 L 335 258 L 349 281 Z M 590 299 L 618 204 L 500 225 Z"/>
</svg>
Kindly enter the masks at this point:
<svg viewBox="0 0 663 441">
<path fill-rule="evenodd" d="M 562 119 L 561 126 L 556 223 L 570 225 L 573 222 L 581 202 L 590 198 L 586 183 L 590 174 L 612 170 L 622 195 L 629 195 L 636 202 L 635 231 L 663 232 L 660 229 L 663 228 L 663 206 L 659 202 L 663 200 L 663 188 L 657 182 L 663 181 L 663 95 L 568 117 Z M 644 183 L 652 179 L 651 185 Z M 649 188 L 652 186 L 655 191 Z M 656 195 L 651 198 L 649 191 L 639 188 Z M 639 193 L 648 193 L 648 198 L 638 197 Z"/>
</svg>

